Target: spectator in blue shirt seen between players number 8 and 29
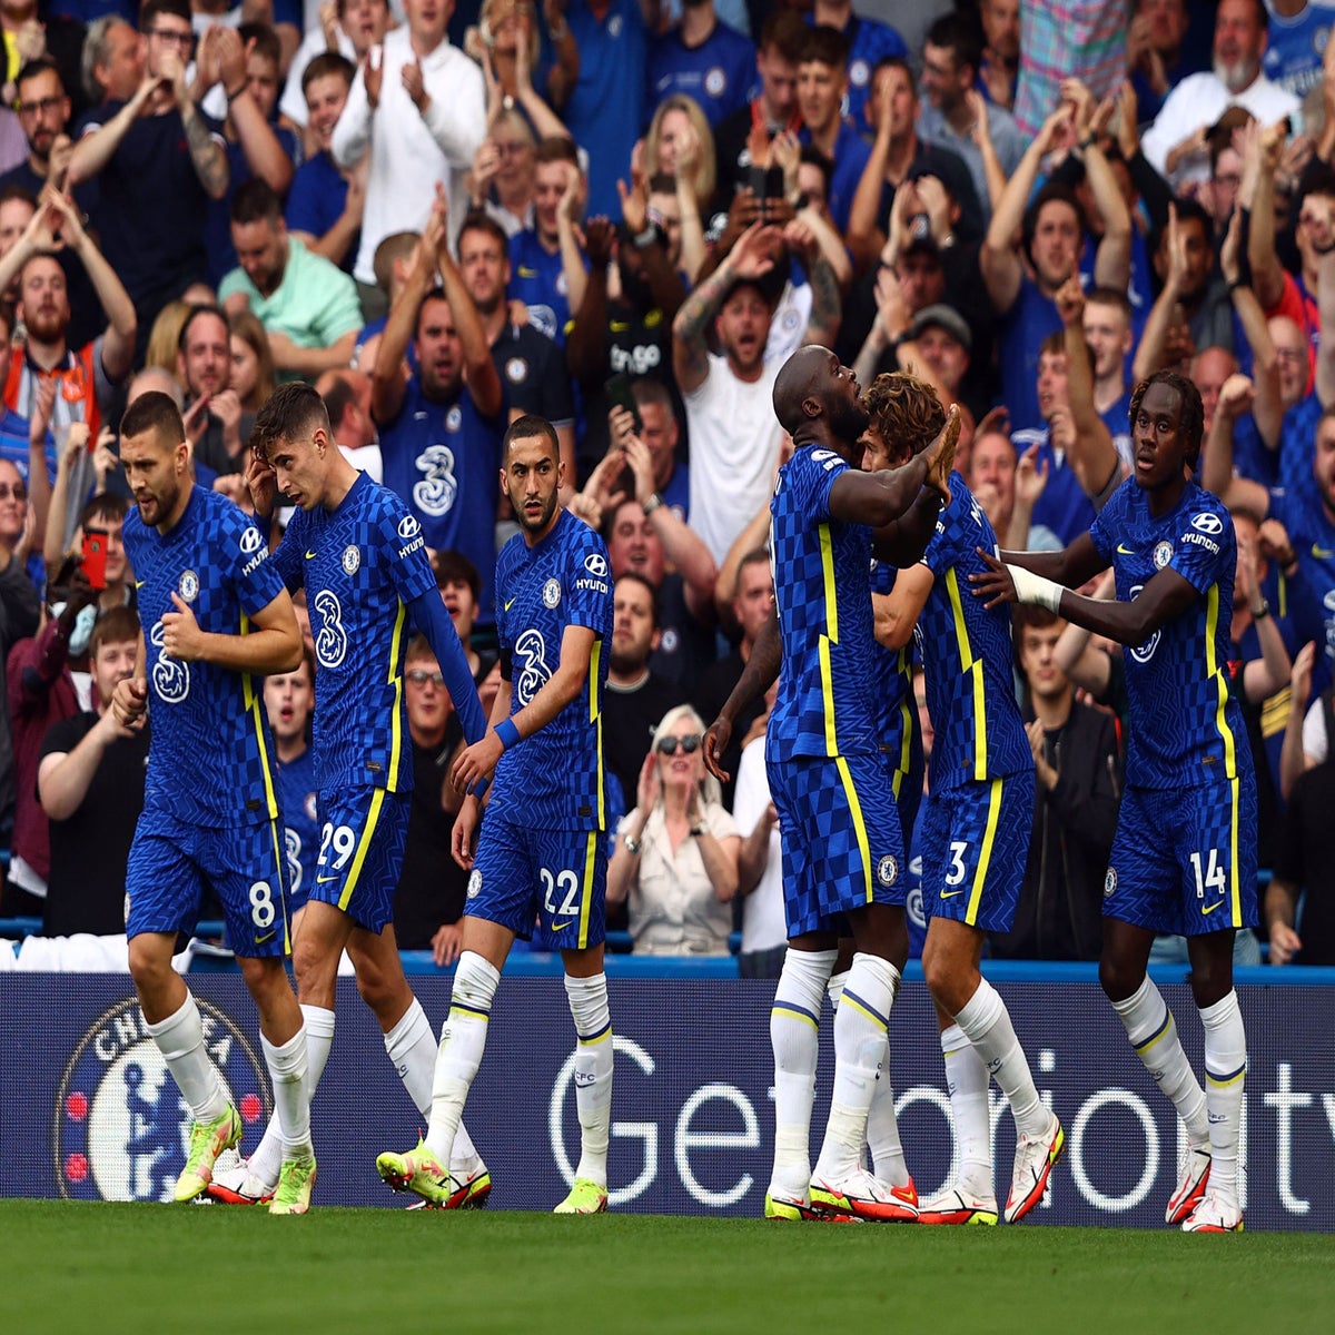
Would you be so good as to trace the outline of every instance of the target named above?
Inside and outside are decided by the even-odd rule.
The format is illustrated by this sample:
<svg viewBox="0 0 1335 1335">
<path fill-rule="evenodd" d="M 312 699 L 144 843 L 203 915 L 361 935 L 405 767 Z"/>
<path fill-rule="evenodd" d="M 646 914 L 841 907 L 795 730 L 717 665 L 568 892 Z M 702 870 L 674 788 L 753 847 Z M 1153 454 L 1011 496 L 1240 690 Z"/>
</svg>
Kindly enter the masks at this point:
<svg viewBox="0 0 1335 1335">
<path fill-rule="evenodd" d="M 303 650 L 302 661 L 287 673 L 264 680 L 264 712 L 274 734 L 278 760 L 278 793 L 283 809 L 283 849 L 287 856 L 287 906 L 292 937 L 302 926 L 302 910 L 315 882 L 320 848 L 318 814 L 319 781 L 315 750 L 310 744 L 311 712 L 315 708 L 315 659 Z"/>
</svg>

